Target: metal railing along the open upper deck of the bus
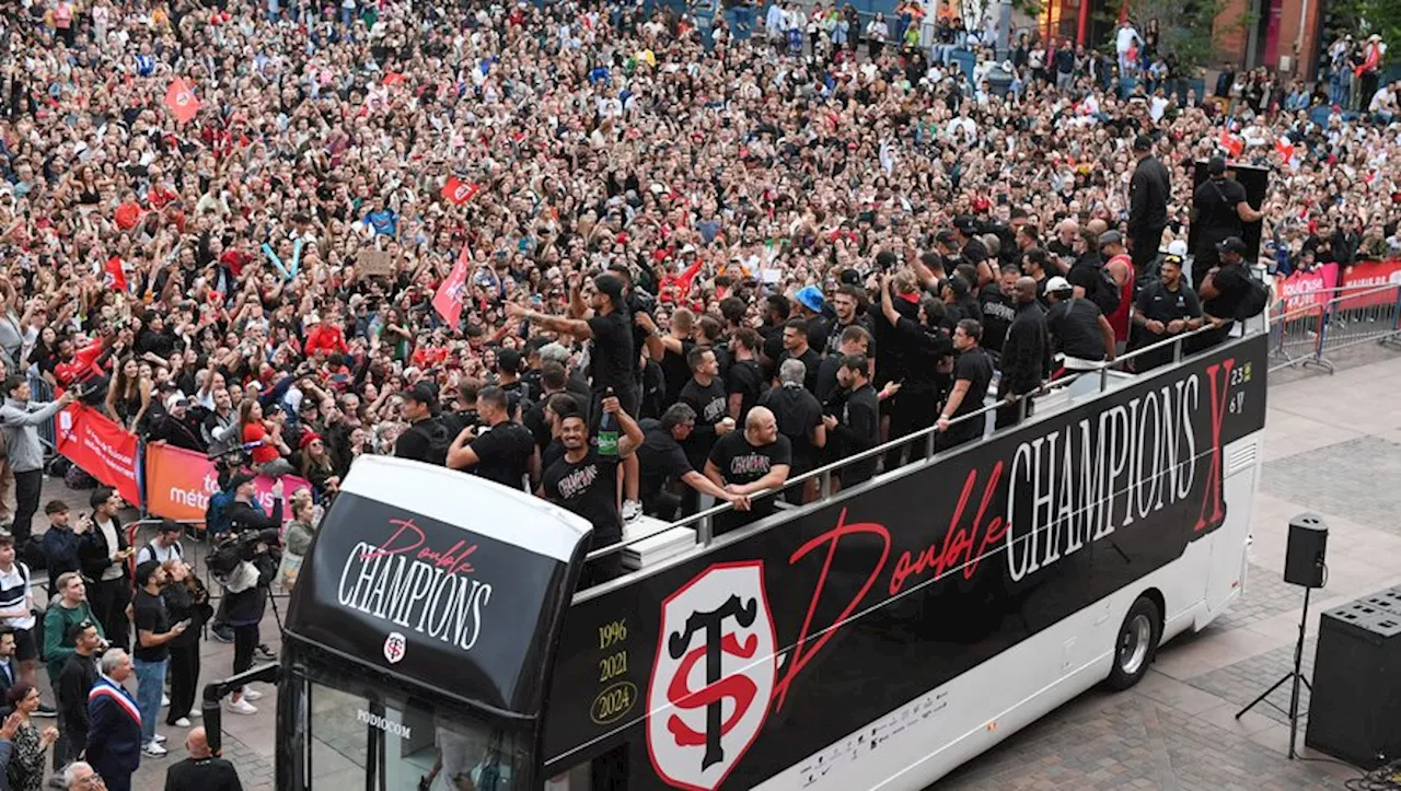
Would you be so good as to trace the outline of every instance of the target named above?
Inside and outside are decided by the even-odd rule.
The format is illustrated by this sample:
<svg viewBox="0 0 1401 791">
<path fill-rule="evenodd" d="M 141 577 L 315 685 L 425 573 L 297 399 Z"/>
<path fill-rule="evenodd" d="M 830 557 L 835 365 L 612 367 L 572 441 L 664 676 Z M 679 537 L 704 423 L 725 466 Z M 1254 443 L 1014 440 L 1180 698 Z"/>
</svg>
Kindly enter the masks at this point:
<svg viewBox="0 0 1401 791">
<path fill-rule="evenodd" d="M 1241 326 L 1241 325 L 1237 325 L 1237 326 Z M 1261 333 L 1261 332 L 1265 332 L 1265 329 L 1267 329 L 1267 319 L 1265 319 L 1264 315 L 1255 316 L 1255 318 L 1244 322 L 1244 333 L 1245 335 Z M 1094 377 L 1097 377 L 1098 381 L 1097 381 L 1097 386 L 1096 386 L 1096 389 L 1093 392 L 1096 395 L 1107 392 L 1110 389 L 1111 374 L 1117 372 L 1117 368 L 1119 368 L 1125 363 L 1129 363 L 1131 360 L 1136 360 L 1136 358 L 1139 358 L 1139 357 L 1142 357 L 1145 354 L 1149 354 L 1149 353 L 1161 351 L 1164 349 L 1173 349 L 1173 363 L 1175 364 L 1175 363 L 1181 361 L 1185 357 L 1184 349 L 1182 349 L 1182 344 L 1185 342 L 1188 342 L 1188 340 L 1191 340 L 1194 337 L 1199 337 L 1199 336 L 1206 335 L 1206 333 L 1213 332 L 1213 330 L 1215 330 L 1215 328 L 1212 325 L 1205 325 L 1205 326 L 1198 328 L 1195 330 L 1184 332 L 1184 333 L 1180 333 L 1177 336 L 1173 336 L 1173 337 L 1160 340 L 1157 343 L 1153 343 L 1150 346 L 1145 346 L 1142 349 L 1136 349 L 1136 350 L 1133 350 L 1133 351 L 1131 351 L 1128 354 L 1118 356 L 1114 360 L 1107 360 L 1107 361 L 1097 363 L 1091 368 L 1080 371 L 1080 372 L 1077 372 L 1075 375 L 1069 375 L 1069 377 L 1065 377 L 1065 378 L 1048 382 L 1047 385 L 1044 385 L 1040 391 L 1037 391 L 1033 395 L 1035 398 L 1041 398 L 1041 396 L 1049 395 L 1052 392 L 1070 388 L 1070 386 L 1073 386 L 1076 384 L 1094 382 L 1094 379 L 1093 379 Z M 1118 371 L 1118 372 L 1122 372 L 1122 371 Z M 1027 414 L 1026 414 L 1027 399 L 1023 398 L 1023 399 L 1013 400 L 1012 398 L 1007 398 L 1007 396 L 999 398 L 996 402 L 985 405 L 985 406 L 976 409 L 975 412 L 969 412 L 968 414 L 962 414 L 962 416 L 960 416 L 957 419 L 953 419 L 948 423 L 950 423 L 950 426 L 955 426 L 955 424 L 960 424 L 960 423 L 964 423 L 964 421 L 969 421 L 969 420 L 982 420 L 982 421 L 986 421 L 988 420 L 988 413 L 995 412 L 996 409 L 1000 409 L 1002 406 L 1006 406 L 1009 403 L 1019 403 L 1020 405 L 1020 410 L 1021 410 L 1021 413 L 1019 416 L 1020 417 L 1019 426 L 1020 426 L 1027 419 Z M 1035 414 L 1035 417 L 1033 417 L 1033 420 L 1042 420 L 1047 416 L 1055 414 L 1058 412 L 1061 412 L 1061 410 L 1059 409 L 1038 410 L 1037 414 Z M 743 428 L 737 428 L 737 430 L 743 431 Z M 839 473 L 842 469 L 846 469 L 850 465 L 855 465 L 855 463 L 859 463 L 859 462 L 866 462 L 866 461 L 870 461 L 873 458 L 878 458 L 878 456 L 881 456 L 884 454 L 888 454 L 890 451 L 897 451 L 897 449 L 905 448 L 905 447 L 913 447 L 913 442 L 916 442 L 919 440 L 925 441 L 925 454 L 923 454 L 923 456 L 912 456 L 904 465 L 897 466 L 897 468 L 890 469 L 890 470 L 884 470 L 881 475 L 877 475 L 877 476 L 871 477 L 871 480 L 880 480 L 881 477 L 884 477 L 885 475 L 888 475 L 891 472 L 895 472 L 895 470 L 899 470 L 899 469 L 905 469 L 905 468 L 911 468 L 912 465 L 925 463 L 925 462 L 930 461 L 932 458 L 934 458 L 937 455 L 934 452 L 934 437 L 937 435 L 937 433 L 939 433 L 937 426 L 930 426 L 930 427 L 926 427 L 926 428 L 920 428 L 918 431 L 912 431 L 912 433 L 909 433 L 909 434 L 906 434 L 904 437 L 899 437 L 899 438 L 895 438 L 895 440 L 890 440 L 890 441 L 883 442 L 883 444 L 880 444 L 880 445 L 877 445 L 874 448 L 870 448 L 867 451 L 862 451 L 859 454 L 853 454 L 850 456 L 846 456 L 846 458 L 838 459 L 835 462 L 831 462 L 828 465 L 820 466 L 820 468 L 817 468 L 814 470 L 808 470 L 806 473 L 793 476 L 793 477 L 787 479 L 782 486 L 778 486 L 775 489 L 765 489 L 765 490 L 761 490 L 761 491 L 757 491 L 757 493 L 751 494 L 750 500 L 754 501 L 754 500 L 759 500 L 759 498 L 764 498 L 764 497 L 775 497 L 775 496 L 783 494 L 783 493 L 786 493 L 786 491 L 789 491 L 792 489 L 796 489 L 799 486 L 806 486 L 807 482 L 814 480 L 814 479 L 820 482 L 821 497 L 827 497 L 828 494 L 832 493 L 832 475 L 834 473 Z M 960 445 L 958 448 L 948 449 L 947 454 L 954 454 L 958 449 L 975 445 L 975 444 L 986 440 L 986 437 L 988 437 L 988 434 L 984 434 L 984 437 L 981 437 L 979 440 L 976 440 L 974 442 L 967 442 L 964 445 Z M 677 519 L 677 521 L 668 524 L 665 529 L 674 529 L 674 528 L 682 528 L 682 526 L 696 525 L 696 533 L 698 533 L 698 536 L 696 536 L 696 546 L 699 546 L 699 547 L 708 547 L 715 540 L 715 531 L 712 529 L 712 524 L 713 524 L 715 517 L 719 515 L 719 514 L 724 514 L 726 511 L 733 511 L 733 510 L 734 510 L 733 504 L 730 504 L 730 503 L 720 503 L 720 504 L 717 504 L 715 507 L 705 508 L 705 510 L 702 510 L 702 511 L 699 511 L 696 514 L 692 514 L 689 517 Z M 633 538 L 633 539 L 626 539 L 626 540 L 622 540 L 622 542 L 618 542 L 618 543 L 614 543 L 614 545 L 609 545 L 609 546 L 605 546 L 605 547 L 595 549 L 595 550 L 593 550 L 593 552 L 588 553 L 587 559 L 588 560 L 594 560 L 597 557 L 604 557 L 604 556 L 612 554 L 615 552 L 623 552 L 629 546 L 632 546 L 635 543 L 639 543 L 639 542 L 643 542 L 643 540 L 647 540 L 649 538 L 651 538 L 651 535 L 639 536 L 639 538 Z M 597 589 L 602 589 L 602 588 L 608 588 L 608 587 L 611 587 L 611 585 L 605 584 L 605 585 L 600 585 L 598 588 L 584 589 L 584 591 L 580 591 L 579 595 L 587 595 L 591 591 L 597 591 Z"/>
</svg>

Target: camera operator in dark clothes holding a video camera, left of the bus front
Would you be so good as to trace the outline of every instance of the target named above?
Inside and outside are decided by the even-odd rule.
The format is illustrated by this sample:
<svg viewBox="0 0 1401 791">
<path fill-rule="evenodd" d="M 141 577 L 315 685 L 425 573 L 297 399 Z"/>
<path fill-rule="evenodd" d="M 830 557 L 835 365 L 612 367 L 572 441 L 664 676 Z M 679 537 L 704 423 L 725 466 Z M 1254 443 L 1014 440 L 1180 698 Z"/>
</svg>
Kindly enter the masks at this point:
<svg viewBox="0 0 1401 791">
<path fill-rule="evenodd" d="M 234 631 L 234 673 L 252 666 L 254 651 L 259 648 L 258 624 L 268 609 L 268 585 L 277 571 L 272 547 L 277 545 L 282 528 L 282 482 L 273 484 L 273 508 L 265 515 L 254 503 L 254 475 L 234 473 L 228 482 L 234 501 L 228 507 L 230 531 L 209 559 L 209 568 L 224 587 L 224 617 Z M 266 650 L 265 650 L 266 654 Z M 262 693 L 237 689 L 228 710 L 235 714 L 256 714 L 249 701 Z"/>
</svg>

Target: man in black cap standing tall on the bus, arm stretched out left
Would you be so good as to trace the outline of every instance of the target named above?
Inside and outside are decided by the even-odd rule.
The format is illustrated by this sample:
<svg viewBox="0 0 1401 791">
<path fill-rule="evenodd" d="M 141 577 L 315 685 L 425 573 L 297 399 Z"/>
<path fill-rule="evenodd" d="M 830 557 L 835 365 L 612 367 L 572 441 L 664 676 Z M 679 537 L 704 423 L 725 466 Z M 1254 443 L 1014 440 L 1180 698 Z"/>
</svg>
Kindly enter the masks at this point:
<svg viewBox="0 0 1401 791">
<path fill-rule="evenodd" d="M 594 279 L 594 291 L 586 308 L 577 286 L 570 287 L 570 315 L 552 316 L 506 302 L 506 315 L 527 319 L 548 332 L 570 335 L 579 340 L 593 340 L 590 374 L 593 377 L 593 406 L 597 407 L 612 389 L 623 412 L 636 417 L 642 405 L 642 388 L 633 377 L 637 349 L 632 343 L 630 318 L 623 308 L 623 281 L 616 274 Z M 602 414 L 591 407 L 590 414 Z"/>
</svg>

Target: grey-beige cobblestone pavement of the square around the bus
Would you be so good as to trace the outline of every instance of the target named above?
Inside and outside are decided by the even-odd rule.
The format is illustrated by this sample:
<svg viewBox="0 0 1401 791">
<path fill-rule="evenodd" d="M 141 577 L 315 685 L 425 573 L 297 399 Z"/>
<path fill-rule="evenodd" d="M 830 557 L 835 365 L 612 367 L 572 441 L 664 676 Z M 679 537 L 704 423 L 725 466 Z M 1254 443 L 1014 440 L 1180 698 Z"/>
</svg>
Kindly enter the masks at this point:
<svg viewBox="0 0 1401 791">
<path fill-rule="evenodd" d="M 1306 672 L 1318 613 L 1401 584 L 1401 489 L 1394 486 L 1401 480 L 1401 402 L 1391 395 L 1398 391 L 1397 357 L 1272 386 L 1243 596 L 1202 633 L 1166 645 L 1135 689 L 1080 696 L 961 767 L 937 791 L 1342 788 L 1356 771 L 1285 757 L 1283 714 L 1264 703 L 1238 721 L 1234 714 L 1293 662 L 1302 589 L 1281 580 L 1290 517 L 1316 511 L 1331 528 L 1330 580 L 1310 605 Z M 1339 409 L 1339 398 L 1348 409 Z M 85 508 L 88 493 L 49 482 L 48 497 Z M 263 636 L 275 648 L 276 634 L 269 610 Z M 233 645 L 205 643 L 202 683 L 228 675 L 231 665 Z M 224 755 L 249 791 L 275 790 L 275 694 L 268 692 L 256 715 L 223 718 Z M 1269 700 L 1288 708 L 1288 685 Z M 1307 692 L 1302 700 L 1306 708 Z M 137 791 L 164 788 L 165 767 L 182 757 L 184 731 L 163 727 L 161 732 L 170 736 L 171 756 L 143 762 Z"/>
</svg>

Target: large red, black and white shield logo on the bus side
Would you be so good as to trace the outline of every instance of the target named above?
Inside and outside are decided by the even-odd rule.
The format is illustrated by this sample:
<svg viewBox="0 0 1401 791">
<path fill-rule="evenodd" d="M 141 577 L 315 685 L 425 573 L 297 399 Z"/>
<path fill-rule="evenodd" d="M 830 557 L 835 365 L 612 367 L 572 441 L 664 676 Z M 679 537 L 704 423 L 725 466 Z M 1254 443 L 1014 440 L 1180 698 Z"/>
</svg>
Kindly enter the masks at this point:
<svg viewBox="0 0 1401 791">
<path fill-rule="evenodd" d="M 677 788 L 713 791 L 764 728 L 778 676 L 759 561 L 719 563 L 661 603 L 647 752 Z"/>
</svg>

